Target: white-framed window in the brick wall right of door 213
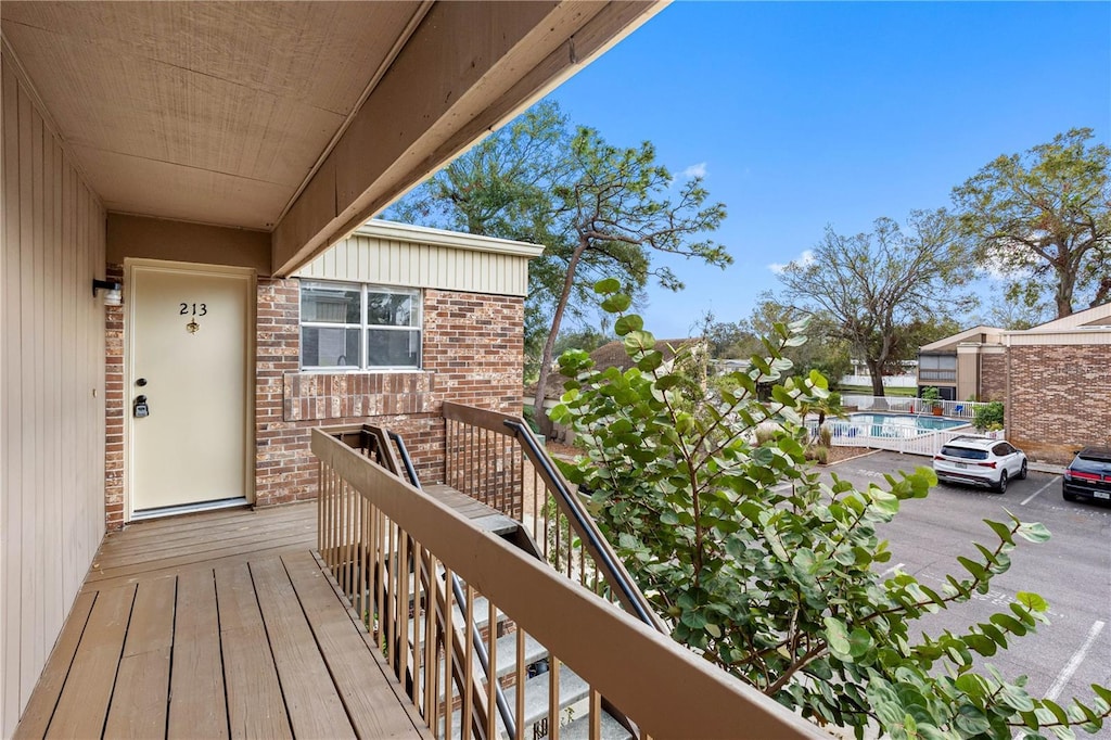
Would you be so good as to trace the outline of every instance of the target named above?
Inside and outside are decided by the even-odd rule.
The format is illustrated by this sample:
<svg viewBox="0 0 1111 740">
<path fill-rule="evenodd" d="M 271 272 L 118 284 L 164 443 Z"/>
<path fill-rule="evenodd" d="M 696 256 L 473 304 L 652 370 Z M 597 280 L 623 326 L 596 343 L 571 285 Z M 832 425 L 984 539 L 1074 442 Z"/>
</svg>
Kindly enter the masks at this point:
<svg viewBox="0 0 1111 740">
<path fill-rule="evenodd" d="M 412 370 L 420 348 L 420 290 L 301 281 L 302 369 Z"/>
</svg>

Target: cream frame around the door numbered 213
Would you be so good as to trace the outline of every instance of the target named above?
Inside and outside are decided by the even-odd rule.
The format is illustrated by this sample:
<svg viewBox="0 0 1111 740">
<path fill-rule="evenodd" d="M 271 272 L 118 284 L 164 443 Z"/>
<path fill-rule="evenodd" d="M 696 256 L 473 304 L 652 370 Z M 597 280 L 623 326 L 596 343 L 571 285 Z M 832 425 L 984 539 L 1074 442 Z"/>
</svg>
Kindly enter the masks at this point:
<svg viewBox="0 0 1111 740">
<path fill-rule="evenodd" d="M 134 271 L 136 268 L 154 268 L 168 272 L 178 272 L 196 276 L 219 276 L 238 277 L 243 279 L 244 300 L 247 301 L 243 327 L 243 449 L 247 460 L 243 466 L 243 500 L 234 499 L 228 503 L 220 501 L 216 503 L 194 503 L 174 507 L 172 509 L 160 509 L 157 513 L 142 514 L 137 517 L 134 510 L 134 492 L 131 490 L 131 481 L 134 480 L 133 466 L 134 458 L 132 450 L 132 434 L 134 429 L 134 417 L 128 412 L 134 396 Z M 254 503 L 254 378 L 256 378 L 256 310 L 258 308 L 258 274 L 252 268 L 232 267 L 228 264 L 203 264 L 199 262 L 176 262 L 168 260 L 152 260 L 128 258 L 123 260 L 123 390 L 121 398 L 123 413 L 123 521 L 142 521 L 168 517 L 191 511 L 203 511 L 207 509 L 219 509 L 228 506 L 242 506 L 243 503 Z"/>
</svg>

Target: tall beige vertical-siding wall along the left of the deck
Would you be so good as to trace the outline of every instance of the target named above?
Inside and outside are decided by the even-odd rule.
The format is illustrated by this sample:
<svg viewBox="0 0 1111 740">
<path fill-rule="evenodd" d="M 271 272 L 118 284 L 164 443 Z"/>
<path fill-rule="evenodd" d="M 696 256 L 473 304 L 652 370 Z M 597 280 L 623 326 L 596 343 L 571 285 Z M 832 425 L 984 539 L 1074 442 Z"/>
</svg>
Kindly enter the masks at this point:
<svg viewBox="0 0 1111 740">
<path fill-rule="evenodd" d="M 0 733 L 103 534 L 104 211 L 2 57 Z"/>
</svg>

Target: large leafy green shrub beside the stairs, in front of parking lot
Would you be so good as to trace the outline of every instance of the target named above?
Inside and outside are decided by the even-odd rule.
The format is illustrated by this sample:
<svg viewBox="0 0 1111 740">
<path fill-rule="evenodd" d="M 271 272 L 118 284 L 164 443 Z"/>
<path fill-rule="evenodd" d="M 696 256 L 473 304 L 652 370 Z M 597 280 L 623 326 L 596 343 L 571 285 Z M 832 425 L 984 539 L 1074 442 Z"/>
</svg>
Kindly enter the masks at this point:
<svg viewBox="0 0 1111 740">
<path fill-rule="evenodd" d="M 618 280 L 602 281 L 621 312 Z M 774 327 L 764 356 L 735 373 L 735 392 L 689 403 L 684 378 L 654 349 L 643 322 L 622 313 L 617 333 L 635 367 L 597 371 L 583 352 L 560 362 L 572 380 L 553 419 L 584 447 L 561 466 L 672 636 L 804 717 L 857 728 L 878 723 L 894 738 L 1009 738 L 1072 727 L 1095 732 L 1111 716 L 1111 691 L 1093 686 L 1068 708 L 1031 697 L 1024 678 L 978 668 L 1044 622 L 1045 601 L 1019 592 L 990 619 L 959 632 L 921 633 L 919 618 L 960 609 L 1005 572 L 1021 540 L 1049 532 L 1013 517 L 987 521 L 987 544 L 959 557 L 964 576 L 933 590 L 899 569 L 877 524 L 937 482 L 920 468 L 887 486 L 824 484 L 804 462 L 800 409 L 828 397 L 819 373 L 787 378 L 782 349 L 800 327 Z M 757 387 L 774 383 L 769 402 Z M 767 430 L 757 441 L 757 430 Z"/>
</svg>

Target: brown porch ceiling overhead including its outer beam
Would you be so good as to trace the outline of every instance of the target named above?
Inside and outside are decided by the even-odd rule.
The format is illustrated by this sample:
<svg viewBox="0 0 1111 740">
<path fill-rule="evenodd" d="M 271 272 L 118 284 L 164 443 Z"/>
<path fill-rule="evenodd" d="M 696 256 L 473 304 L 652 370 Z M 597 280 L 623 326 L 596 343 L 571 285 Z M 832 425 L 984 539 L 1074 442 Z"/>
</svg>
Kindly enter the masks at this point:
<svg viewBox="0 0 1111 740">
<path fill-rule="evenodd" d="M 272 232 L 288 273 L 650 2 L 37 2 L 3 38 L 110 211 Z"/>
</svg>

